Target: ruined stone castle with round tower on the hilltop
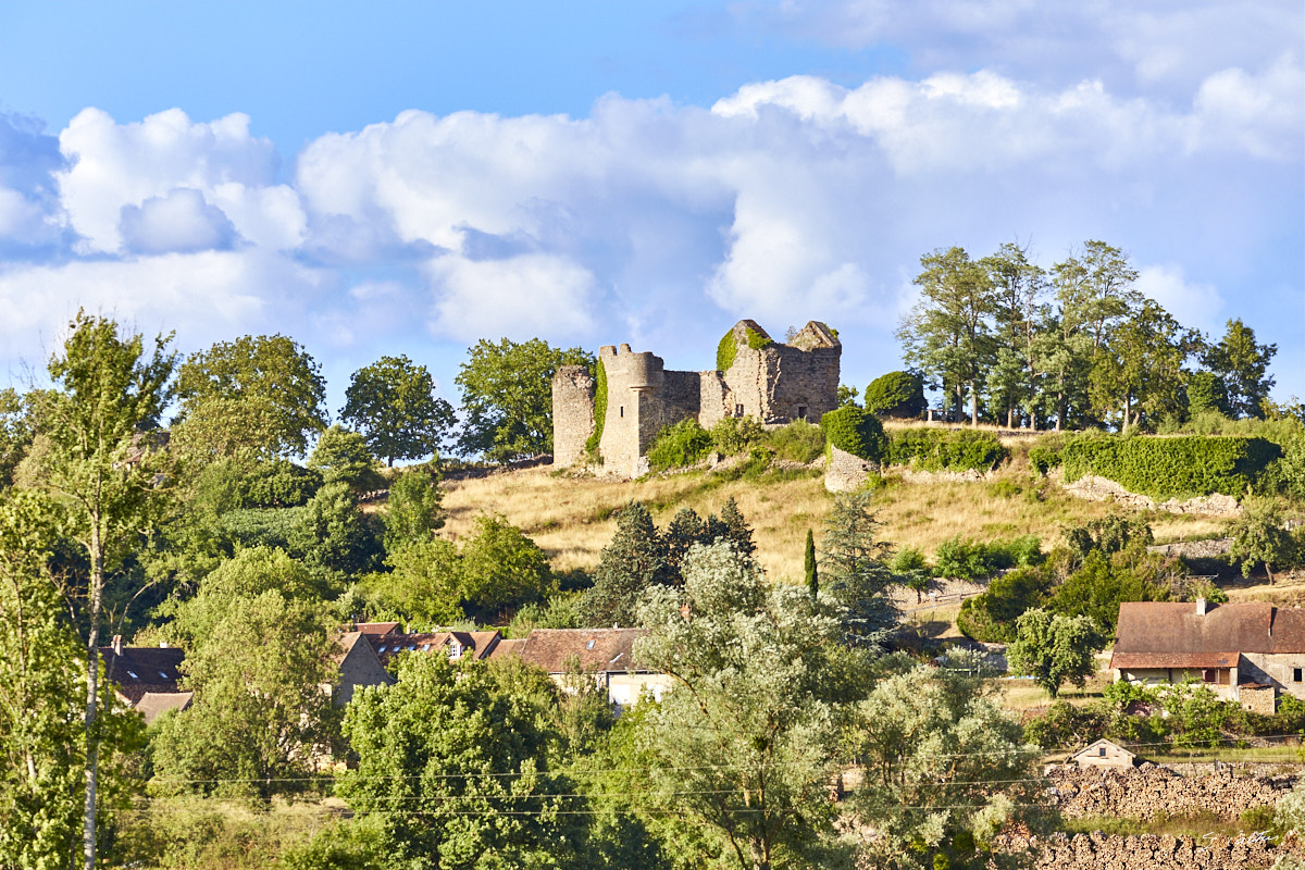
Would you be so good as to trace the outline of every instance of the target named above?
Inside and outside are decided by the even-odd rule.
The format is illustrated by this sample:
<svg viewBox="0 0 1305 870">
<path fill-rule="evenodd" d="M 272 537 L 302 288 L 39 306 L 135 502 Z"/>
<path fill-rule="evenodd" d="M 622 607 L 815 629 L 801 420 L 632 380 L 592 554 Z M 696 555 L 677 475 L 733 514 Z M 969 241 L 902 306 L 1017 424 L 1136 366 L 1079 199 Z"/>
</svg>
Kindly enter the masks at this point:
<svg viewBox="0 0 1305 870">
<path fill-rule="evenodd" d="M 647 471 L 645 454 L 656 433 L 686 417 L 707 429 L 729 416 L 771 425 L 818 421 L 838 407 L 842 353 L 838 337 L 816 321 L 788 344 L 775 343 L 754 321 L 739 321 L 720 342 L 723 372 L 672 372 L 646 351 L 604 346 L 598 361 L 606 395 L 582 365 L 553 376 L 553 464 L 590 463 L 587 442 L 598 424 L 603 468 L 637 477 Z"/>
</svg>

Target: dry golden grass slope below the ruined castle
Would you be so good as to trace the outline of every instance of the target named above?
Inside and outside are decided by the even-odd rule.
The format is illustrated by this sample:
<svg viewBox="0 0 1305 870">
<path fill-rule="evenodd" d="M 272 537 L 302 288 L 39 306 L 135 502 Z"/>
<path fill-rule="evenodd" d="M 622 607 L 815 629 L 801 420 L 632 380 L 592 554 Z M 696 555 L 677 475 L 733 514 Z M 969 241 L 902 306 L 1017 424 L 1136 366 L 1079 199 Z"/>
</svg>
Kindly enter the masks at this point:
<svg viewBox="0 0 1305 870">
<path fill-rule="evenodd" d="M 1034 533 L 1049 548 L 1064 524 L 1109 513 L 1109 505 L 1073 498 L 1035 475 L 1019 440 L 1011 441 L 1013 460 L 984 481 L 912 484 L 890 472 L 876 496 L 883 536 L 927 556 L 955 535 L 993 540 Z M 706 514 L 732 496 L 756 530 L 758 557 L 770 577 L 797 579 L 806 530 L 814 528 L 820 537 L 831 503 L 821 476 L 793 472 L 727 480 L 692 471 L 612 481 L 543 467 L 445 487 L 446 535 L 466 533 L 478 514 L 502 514 L 548 552 L 557 570 L 592 569 L 616 528 L 612 513 L 632 498 L 643 501 L 664 526 L 683 506 Z M 1224 524 L 1202 517 L 1151 517 L 1159 541 L 1215 536 Z"/>
</svg>

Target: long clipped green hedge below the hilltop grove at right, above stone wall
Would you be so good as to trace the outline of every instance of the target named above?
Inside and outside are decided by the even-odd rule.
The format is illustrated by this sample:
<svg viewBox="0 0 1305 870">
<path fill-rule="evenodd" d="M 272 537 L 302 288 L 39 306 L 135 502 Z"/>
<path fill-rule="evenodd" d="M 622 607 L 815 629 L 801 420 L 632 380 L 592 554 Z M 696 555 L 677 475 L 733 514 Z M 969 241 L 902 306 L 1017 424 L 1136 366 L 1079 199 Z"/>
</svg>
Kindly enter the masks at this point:
<svg viewBox="0 0 1305 870">
<path fill-rule="evenodd" d="M 1060 450 L 1065 480 L 1098 475 L 1152 498 L 1241 496 L 1282 455 L 1265 438 L 1083 436 Z"/>
</svg>

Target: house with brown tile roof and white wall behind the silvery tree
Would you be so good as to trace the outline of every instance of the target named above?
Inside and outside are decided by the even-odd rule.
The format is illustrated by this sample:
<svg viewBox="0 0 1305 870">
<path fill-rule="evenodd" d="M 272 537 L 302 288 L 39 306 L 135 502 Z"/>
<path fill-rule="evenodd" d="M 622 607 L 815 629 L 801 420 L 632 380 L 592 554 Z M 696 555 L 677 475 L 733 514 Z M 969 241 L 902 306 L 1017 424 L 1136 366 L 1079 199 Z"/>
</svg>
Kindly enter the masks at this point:
<svg viewBox="0 0 1305 870">
<path fill-rule="evenodd" d="M 641 634 L 642 629 L 535 629 L 525 640 L 500 640 L 492 655 L 517 656 L 562 687 L 570 673 L 592 674 L 608 700 L 628 707 L 645 690 L 660 698 L 671 686 L 671 677 L 634 657 Z"/>
</svg>

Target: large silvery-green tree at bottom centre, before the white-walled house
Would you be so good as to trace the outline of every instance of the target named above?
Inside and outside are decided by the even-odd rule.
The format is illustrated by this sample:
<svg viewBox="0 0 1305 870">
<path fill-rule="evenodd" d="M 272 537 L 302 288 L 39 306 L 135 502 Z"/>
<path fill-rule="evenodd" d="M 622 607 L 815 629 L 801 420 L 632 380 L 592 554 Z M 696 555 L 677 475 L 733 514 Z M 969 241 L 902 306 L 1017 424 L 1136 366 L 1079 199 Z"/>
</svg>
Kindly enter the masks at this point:
<svg viewBox="0 0 1305 870">
<path fill-rule="evenodd" d="M 847 689 L 830 603 L 767 586 L 727 543 L 694 548 L 684 574 L 683 590 L 647 592 L 634 646 L 673 683 L 638 730 L 651 798 L 703 826 L 740 870 L 822 866 Z"/>
</svg>

